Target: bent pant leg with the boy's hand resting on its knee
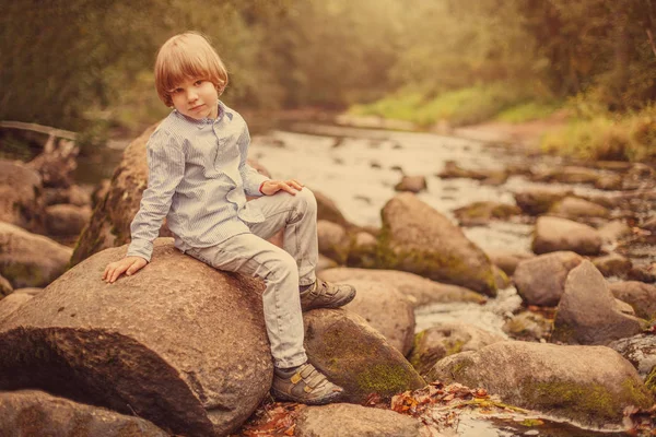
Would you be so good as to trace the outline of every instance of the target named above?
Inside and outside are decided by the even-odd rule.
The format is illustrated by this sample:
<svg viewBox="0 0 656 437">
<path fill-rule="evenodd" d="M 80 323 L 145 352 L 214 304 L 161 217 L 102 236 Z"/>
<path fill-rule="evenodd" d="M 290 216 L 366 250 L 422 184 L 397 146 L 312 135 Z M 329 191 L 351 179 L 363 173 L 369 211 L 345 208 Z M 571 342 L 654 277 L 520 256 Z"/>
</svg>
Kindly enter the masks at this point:
<svg viewBox="0 0 656 437">
<path fill-rule="evenodd" d="M 315 269 L 319 259 L 317 239 L 317 201 L 304 187 L 296 196 L 279 191 L 250 201 L 265 215 L 262 223 L 246 223 L 255 235 L 270 238 L 284 228 L 283 249 L 298 267 L 300 285 L 316 281 Z"/>
</svg>

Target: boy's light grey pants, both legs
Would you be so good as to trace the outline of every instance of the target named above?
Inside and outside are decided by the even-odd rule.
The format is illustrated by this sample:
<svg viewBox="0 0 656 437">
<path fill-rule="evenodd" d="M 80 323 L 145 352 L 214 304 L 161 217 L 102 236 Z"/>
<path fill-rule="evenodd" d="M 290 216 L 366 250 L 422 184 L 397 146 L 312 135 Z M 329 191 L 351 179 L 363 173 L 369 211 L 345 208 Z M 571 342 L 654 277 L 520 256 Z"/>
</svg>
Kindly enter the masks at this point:
<svg viewBox="0 0 656 437">
<path fill-rule="evenodd" d="M 187 253 L 215 269 L 239 272 L 265 281 L 265 322 L 276 367 L 298 366 L 305 361 L 303 316 L 298 285 L 315 282 L 318 260 L 317 202 L 303 188 L 292 196 L 279 191 L 250 201 L 265 215 L 262 223 L 246 223 L 251 234 L 241 234 L 218 246 Z M 267 241 L 284 228 L 283 249 Z"/>
</svg>

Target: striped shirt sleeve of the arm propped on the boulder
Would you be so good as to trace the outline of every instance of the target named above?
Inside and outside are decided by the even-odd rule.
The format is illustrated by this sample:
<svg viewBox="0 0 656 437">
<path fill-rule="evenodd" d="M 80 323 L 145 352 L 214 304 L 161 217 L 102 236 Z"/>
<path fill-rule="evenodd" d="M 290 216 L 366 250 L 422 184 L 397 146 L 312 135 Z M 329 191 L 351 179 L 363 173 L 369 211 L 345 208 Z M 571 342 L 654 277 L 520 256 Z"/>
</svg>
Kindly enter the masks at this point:
<svg viewBox="0 0 656 437">
<path fill-rule="evenodd" d="M 132 220 L 132 241 L 127 256 L 150 262 L 153 241 L 168 214 L 175 189 L 185 175 L 185 153 L 179 141 L 166 131 L 155 131 L 148 142 L 148 188 Z"/>
</svg>

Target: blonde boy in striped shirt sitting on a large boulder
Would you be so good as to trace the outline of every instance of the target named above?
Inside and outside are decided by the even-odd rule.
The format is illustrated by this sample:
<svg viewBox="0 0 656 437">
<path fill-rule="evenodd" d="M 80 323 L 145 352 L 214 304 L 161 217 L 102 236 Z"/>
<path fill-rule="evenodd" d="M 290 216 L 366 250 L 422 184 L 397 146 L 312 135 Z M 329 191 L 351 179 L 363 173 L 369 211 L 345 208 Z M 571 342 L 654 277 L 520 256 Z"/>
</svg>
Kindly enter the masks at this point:
<svg viewBox="0 0 656 437">
<path fill-rule="evenodd" d="M 274 361 L 273 394 L 324 404 L 342 389 L 307 363 L 302 310 L 337 308 L 355 290 L 317 280 L 316 200 L 295 179 L 271 180 L 247 163 L 246 122 L 219 96 L 227 72 L 196 33 L 168 39 L 155 61 L 155 87 L 174 110 L 148 142 L 149 182 L 131 224 L 126 258 L 105 269 L 113 283 L 151 258 L 162 220 L 183 252 L 213 268 L 265 281 L 265 321 Z M 246 196 L 257 199 L 246 202 Z M 270 244 L 284 228 L 284 250 Z"/>
</svg>

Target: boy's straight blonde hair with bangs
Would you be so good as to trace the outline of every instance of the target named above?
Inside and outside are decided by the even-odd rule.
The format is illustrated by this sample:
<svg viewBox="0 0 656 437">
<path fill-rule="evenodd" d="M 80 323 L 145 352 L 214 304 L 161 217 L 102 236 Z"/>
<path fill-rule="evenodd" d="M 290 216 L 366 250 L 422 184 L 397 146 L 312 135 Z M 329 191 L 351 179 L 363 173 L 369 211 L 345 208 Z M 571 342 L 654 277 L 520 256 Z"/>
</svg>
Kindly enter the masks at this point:
<svg viewBox="0 0 656 437">
<path fill-rule="evenodd" d="M 155 88 L 166 106 L 173 106 L 171 91 L 189 78 L 203 78 L 214 84 L 219 95 L 227 85 L 227 70 L 208 39 L 185 32 L 169 38 L 157 51 Z"/>
</svg>

